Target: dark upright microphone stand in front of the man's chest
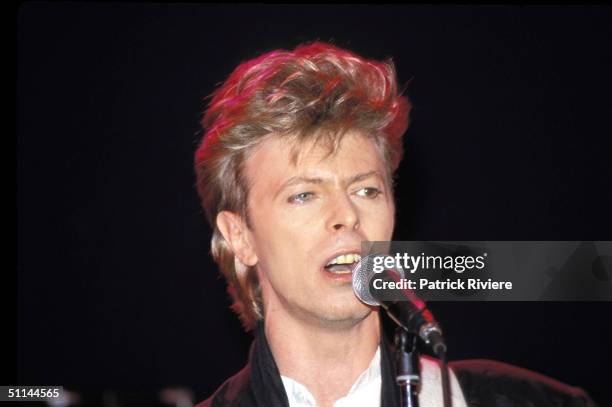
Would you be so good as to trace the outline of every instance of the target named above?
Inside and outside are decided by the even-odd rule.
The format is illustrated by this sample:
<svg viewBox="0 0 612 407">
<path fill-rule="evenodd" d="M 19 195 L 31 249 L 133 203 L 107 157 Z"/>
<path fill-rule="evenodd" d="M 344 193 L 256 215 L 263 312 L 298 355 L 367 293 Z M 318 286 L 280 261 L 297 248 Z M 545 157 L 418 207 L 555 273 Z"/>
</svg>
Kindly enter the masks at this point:
<svg viewBox="0 0 612 407">
<path fill-rule="evenodd" d="M 395 328 L 395 367 L 402 407 L 419 407 L 421 375 L 417 337 L 401 326 Z"/>
</svg>

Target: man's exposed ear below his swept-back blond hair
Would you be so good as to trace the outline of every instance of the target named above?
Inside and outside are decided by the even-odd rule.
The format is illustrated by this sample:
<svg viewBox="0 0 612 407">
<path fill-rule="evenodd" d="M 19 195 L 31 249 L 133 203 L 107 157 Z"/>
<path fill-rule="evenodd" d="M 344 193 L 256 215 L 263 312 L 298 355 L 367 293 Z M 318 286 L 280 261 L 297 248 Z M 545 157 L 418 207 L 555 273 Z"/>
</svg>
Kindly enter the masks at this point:
<svg viewBox="0 0 612 407">
<path fill-rule="evenodd" d="M 246 266 L 257 264 L 257 255 L 250 241 L 246 222 L 234 212 L 221 211 L 217 214 L 217 227 L 234 255 Z"/>
</svg>

